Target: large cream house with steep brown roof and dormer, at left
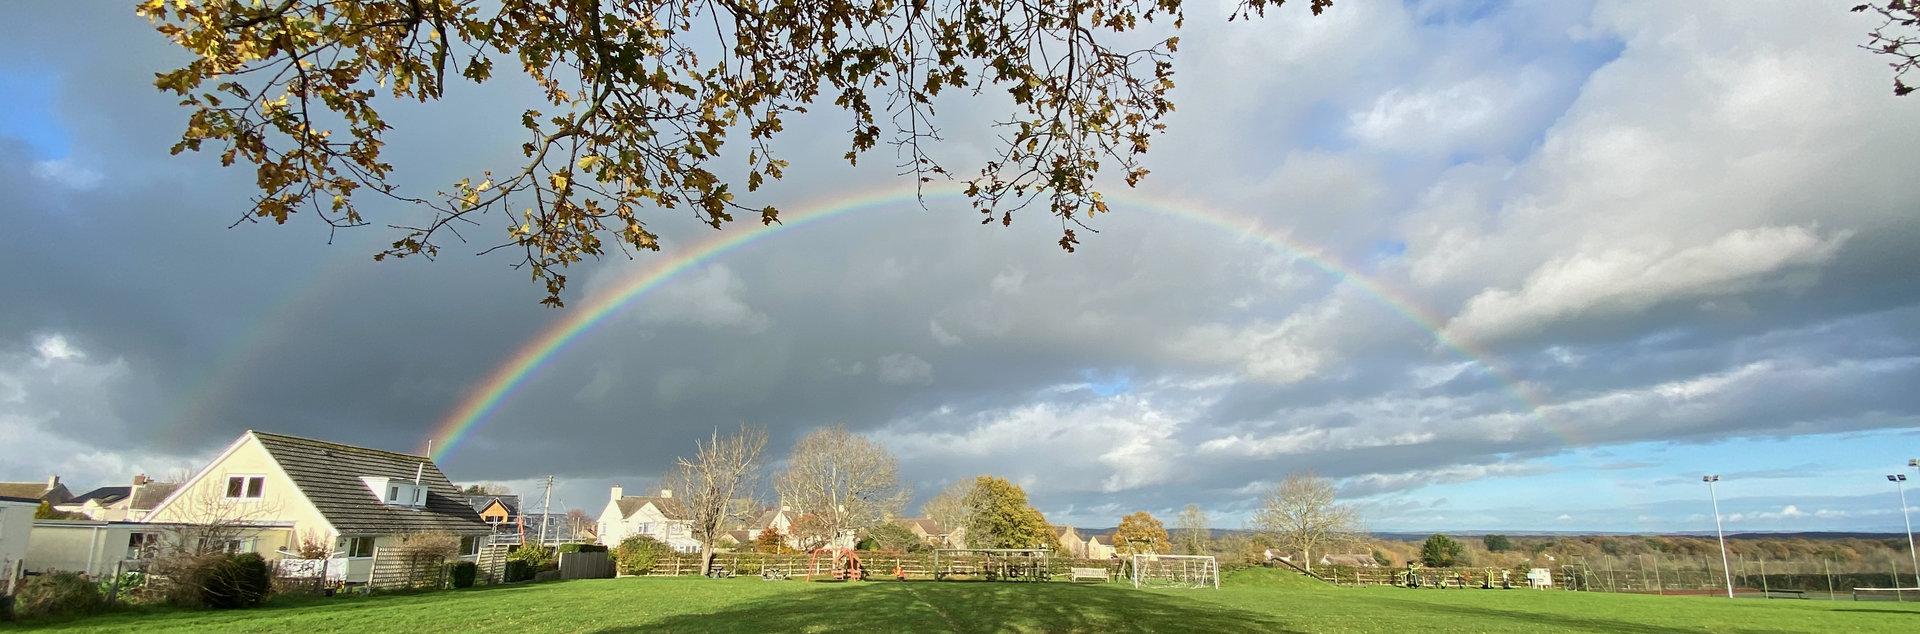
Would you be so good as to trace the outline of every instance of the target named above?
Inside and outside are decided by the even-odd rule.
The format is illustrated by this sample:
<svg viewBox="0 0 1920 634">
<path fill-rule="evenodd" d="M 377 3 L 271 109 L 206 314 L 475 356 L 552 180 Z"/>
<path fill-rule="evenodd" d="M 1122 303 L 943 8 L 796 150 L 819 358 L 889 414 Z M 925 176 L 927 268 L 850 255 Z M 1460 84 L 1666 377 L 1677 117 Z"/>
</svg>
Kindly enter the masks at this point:
<svg viewBox="0 0 1920 634">
<path fill-rule="evenodd" d="M 461 536 L 474 555 L 493 532 L 426 455 L 248 430 L 148 513 L 150 524 L 248 526 L 230 551 L 280 557 L 319 544 L 363 582 L 374 551 L 409 532 Z"/>
</svg>

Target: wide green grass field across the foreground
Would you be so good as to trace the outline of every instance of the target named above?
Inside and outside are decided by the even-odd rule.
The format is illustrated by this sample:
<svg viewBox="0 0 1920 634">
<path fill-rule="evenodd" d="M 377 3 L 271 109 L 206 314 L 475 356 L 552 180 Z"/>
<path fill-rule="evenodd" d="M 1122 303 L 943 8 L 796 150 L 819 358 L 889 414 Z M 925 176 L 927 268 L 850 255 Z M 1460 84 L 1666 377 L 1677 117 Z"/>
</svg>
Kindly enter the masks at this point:
<svg viewBox="0 0 1920 634">
<path fill-rule="evenodd" d="M 1331 588 L 1279 571 L 1221 590 L 616 578 L 252 611 L 131 611 L 44 630 L 140 632 L 1920 632 L 1916 603 L 1534 590 Z"/>
</svg>

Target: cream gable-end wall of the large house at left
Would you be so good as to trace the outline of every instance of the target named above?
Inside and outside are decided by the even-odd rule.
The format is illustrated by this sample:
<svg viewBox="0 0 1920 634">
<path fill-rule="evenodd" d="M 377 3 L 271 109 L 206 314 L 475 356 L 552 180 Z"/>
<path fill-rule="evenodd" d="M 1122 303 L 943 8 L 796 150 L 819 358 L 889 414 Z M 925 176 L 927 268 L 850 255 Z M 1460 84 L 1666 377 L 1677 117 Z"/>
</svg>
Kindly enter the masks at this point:
<svg viewBox="0 0 1920 634">
<path fill-rule="evenodd" d="M 227 476 L 230 475 L 267 476 L 261 498 L 227 500 Z M 332 524 L 300 494 L 294 480 L 280 471 L 280 465 L 273 461 L 273 455 L 259 446 L 253 434 L 244 436 L 232 451 L 219 457 L 196 480 L 182 484 L 173 498 L 148 513 L 146 521 L 198 524 L 217 515 L 227 515 L 228 521 L 246 519 L 250 523 L 288 526 L 284 534 L 263 536 L 267 544 L 259 544 L 257 551 L 269 559 L 276 557 L 278 549 L 292 546 L 298 534 L 313 534 L 324 540 L 336 536 Z"/>
</svg>

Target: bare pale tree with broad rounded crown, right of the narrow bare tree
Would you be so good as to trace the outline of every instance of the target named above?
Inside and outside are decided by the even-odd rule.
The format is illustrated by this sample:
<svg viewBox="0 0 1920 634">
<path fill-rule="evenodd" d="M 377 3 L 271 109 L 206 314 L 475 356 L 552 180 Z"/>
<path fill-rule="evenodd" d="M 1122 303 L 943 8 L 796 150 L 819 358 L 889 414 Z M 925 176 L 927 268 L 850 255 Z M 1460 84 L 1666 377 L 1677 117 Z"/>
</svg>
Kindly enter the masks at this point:
<svg viewBox="0 0 1920 634">
<path fill-rule="evenodd" d="M 793 444 L 774 490 L 781 503 L 812 515 L 831 542 L 900 513 L 906 488 L 899 473 L 900 461 L 887 448 L 835 425 Z"/>
</svg>

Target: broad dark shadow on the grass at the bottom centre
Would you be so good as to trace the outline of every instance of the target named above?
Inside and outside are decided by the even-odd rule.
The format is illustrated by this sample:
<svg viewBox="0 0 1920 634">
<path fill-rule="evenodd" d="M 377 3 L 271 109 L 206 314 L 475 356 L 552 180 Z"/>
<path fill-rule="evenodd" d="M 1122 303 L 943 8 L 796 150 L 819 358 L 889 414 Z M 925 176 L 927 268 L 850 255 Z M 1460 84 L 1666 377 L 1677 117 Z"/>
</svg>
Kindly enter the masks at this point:
<svg viewBox="0 0 1920 634">
<path fill-rule="evenodd" d="M 601 632 L 1288 632 L 1242 609 L 1123 586 L 868 582 Z"/>
</svg>

